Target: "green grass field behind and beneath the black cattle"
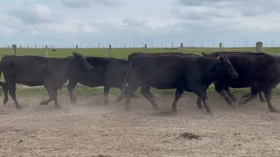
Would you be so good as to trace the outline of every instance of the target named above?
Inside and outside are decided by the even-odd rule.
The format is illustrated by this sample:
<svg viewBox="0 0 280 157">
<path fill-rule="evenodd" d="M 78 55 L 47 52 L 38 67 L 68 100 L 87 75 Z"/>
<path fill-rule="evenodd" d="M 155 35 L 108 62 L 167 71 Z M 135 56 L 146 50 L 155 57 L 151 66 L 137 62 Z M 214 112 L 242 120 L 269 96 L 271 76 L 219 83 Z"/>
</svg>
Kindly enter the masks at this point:
<svg viewBox="0 0 280 157">
<path fill-rule="evenodd" d="M 280 53 L 280 47 L 264 47 L 263 48 L 265 53 Z M 52 49 L 48 49 L 48 57 L 56 57 L 56 58 L 63 58 L 71 56 L 75 49 L 56 49 L 56 51 L 52 51 Z M 99 57 L 110 57 L 109 56 L 109 49 L 79 49 L 79 53 L 83 56 L 99 56 Z M 180 52 L 180 49 L 176 50 L 166 50 L 162 48 L 148 48 L 148 52 Z M 184 53 L 194 53 L 201 55 L 202 52 L 204 53 L 212 53 L 219 51 L 218 48 L 185 48 Z M 249 48 L 225 48 L 223 51 L 240 51 L 240 52 L 255 52 L 255 47 Z M 133 52 L 144 52 L 144 48 L 126 48 L 126 49 L 112 49 L 112 56 L 114 58 L 121 58 L 127 59 L 128 55 Z M 11 55 L 11 49 L 0 49 L 0 55 Z M 45 56 L 45 49 L 17 49 L 17 55 L 34 55 L 34 56 Z M 1 75 L 1 80 L 4 80 L 3 74 Z M 153 92 L 157 92 L 160 94 L 175 94 L 174 89 L 170 90 L 157 90 L 151 89 Z M 249 88 L 244 89 L 231 89 L 234 93 L 249 93 Z M 87 94 L 87 95 L 97 95 L 103 94 L 102 88 L 78 88 L 74 89 L 75 95 L 78 94 Z M 137 91 L 139 92 L 139 90 Z M 211 85 L 207 90 L 208 93 L 216 93 L 214 91 L 214 86 Z M 111 89 L 110 94 L 120 94 L 119 89 Z M 279 95 L 280 88 L 275 88 L 273 90 L 273 95 Z M 48 95 L 45 88 L 17 88 L 17 95 Z M 59 95 L 68 95 L 68 91 L 66 88 L 59 91 Z"/>
</svg>

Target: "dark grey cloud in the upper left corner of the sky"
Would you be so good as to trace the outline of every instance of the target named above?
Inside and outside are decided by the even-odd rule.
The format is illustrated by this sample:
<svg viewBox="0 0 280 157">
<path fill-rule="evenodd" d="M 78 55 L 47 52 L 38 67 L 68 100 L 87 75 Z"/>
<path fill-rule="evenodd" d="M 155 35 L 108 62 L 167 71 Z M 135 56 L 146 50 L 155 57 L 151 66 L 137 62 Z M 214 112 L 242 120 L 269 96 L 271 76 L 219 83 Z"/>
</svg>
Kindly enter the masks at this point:
<svg viewBox="0 0 280 157">
<path fill-rule="evenodd" d="M 50 8 L 43 5 L 22 3 L 8 9 L 7 15 L 20 18 L 24 24 L 60 23 L 62 16 L 53 13 Z"/>
</svg>

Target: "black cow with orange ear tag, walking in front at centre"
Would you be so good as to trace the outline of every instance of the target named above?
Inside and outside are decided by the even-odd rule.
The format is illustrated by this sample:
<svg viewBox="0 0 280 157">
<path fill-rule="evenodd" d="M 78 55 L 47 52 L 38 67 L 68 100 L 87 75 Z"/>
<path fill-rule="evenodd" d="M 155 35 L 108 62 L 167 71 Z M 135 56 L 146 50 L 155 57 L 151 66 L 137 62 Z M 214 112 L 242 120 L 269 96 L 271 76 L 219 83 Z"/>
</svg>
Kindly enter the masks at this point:
<svg viewBox="0 0 280 157">
<path fill-rule="evenodd" d="M 201 97 L 207 112 L 211 113 L 206 99 L 206 89 L 214 82 L 218 75 L 238 77 L 234 67 L 227 57 L 220 59 L 201 56 L 137 56 L 129 61 L 127 75 L 123 83 L 126 109 L 130 111 L 130 99 L 138 87 L 141 94 L 150 101 L 154 108 L 157 103 L 148 95 L 146 87 L 157 89 L 177 89 L 172 104 L 173 111 L 177 111 L 178 99 L 184 91 L 194 92 Z M 128 81 L 128 86 L 125 82 Z"/>
</svg>

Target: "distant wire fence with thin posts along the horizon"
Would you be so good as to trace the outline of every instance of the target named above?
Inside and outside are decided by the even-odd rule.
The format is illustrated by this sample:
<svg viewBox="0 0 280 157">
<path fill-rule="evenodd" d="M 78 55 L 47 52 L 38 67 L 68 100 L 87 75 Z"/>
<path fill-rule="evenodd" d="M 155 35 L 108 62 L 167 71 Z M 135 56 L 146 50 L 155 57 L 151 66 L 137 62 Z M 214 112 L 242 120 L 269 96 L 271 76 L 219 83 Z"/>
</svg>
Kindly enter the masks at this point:
<svg viewBox="0 0 280 157">
<path fill-rule="evenodd" d="M 170 43 L 163 43 L 163 42 L 161 42 L 161 45 L 158 45 L 158 43 L 159 42 L 156 42 L 156 45 L 155 45 L 155 43 L 153 43 L 153 42 L 151 42 L 150 43 L 150 45 L 149 44 L 147 44 L 147 43 L 144 43 L 144 42 L 142 42 L 142 46 L 135 46 L 135 42 L 133 42 L 133 44 L 131 44 L 131 42 L 129 43 L 129 46 L 127 46 L 127 43 L 126 42 L 124 42 L 124 43 L 121 43 L 121 44 L 119 44 L 119 45 L 121 45 L 121 46 L 119 46 L 118 45 L 118 43 L 117 42 L 115 42 L 114 44 L 112 44 L 112 43 L 109 43 L 109 42 L 107 42 L 107 43 L 94 43 L 94 44 L 90 44 L 90 42 L 88 42 L 88 43 L 85 43 L 85 44 L 83 44 L 83 43 L 79 43 L 78 44 L 78 46 L 79 46 L 79 49 L 107 49 L 107 48 L 109 48 L 109 44 L 111 44 L 112 45 L 112 48 L 144 48 L 144 44 L 147 44 L 147 47 L 148 48 L 165 48 L 165 47 L 180 47 L 180 44 L 181 43 L 183 43 L 183 42 L 181 42 L 181 43 L 176 43 L 176 45 L 178 45 L 178 46 L 175 46 L 175 43 L 174 43 L 174 45 L 173 45 L 173 42 L 170 42 Z M 196 42 L 197 43 L 197 42 Z M 61 44 L 59 44 L 59 43 L 56 43 L 56 44 L 49 44 L 49 45 L 47 45 L 48 46 L 48 48 L 52 48 L 52 49 L 75 49 L 75 45 L 76 44 L 74 44 L 74 43 L 71 43 L 71 45 L 69 45 L 69 44 L 67 44 L 67 43 L 65 43 L 65 44 L 63 44 L 63 45 L 61 45 Z M 137 44 L 137 45 L 139 45 L 139 43 Z M 45 46 L 46 45 L 44 45 L 44 44 L 41 44 L 41 45 L 39 45 L 39 44 L 34 44 L 34 45 L 31 45 L 31 44 L 27 44 L 27 45 L 22 45 L 22 44 L 17 44 L 17 48 L 18 49 L 45 49 Z M 218 48 L 219 47 L 219 45 L 214 45 L 214 42 L 212 42 L 212 45 L 203 45 L 203 41 L 201 42 L 201 44 L 200 45 L 198 45 L 198 44 L 193 44 L 193 42 L 189 42 L 189 43 L 184 43 L 184 48 L 198 48 L 198 47 L 200 47 L 200 48 Z M 256 47 L 256 44 L 247 44 L 247 42 L 246 42 L 246 44 L 235 44 L 235 42 L 234 42 L 234 44 L 229 44 L 229 45 L 224 45 L 224 42 L 222 42 L 222 47 L 223 48 L 246 48 L 246 47 Z M 273 41 L 271 42 L 271 44 L 263 44 L 263 47 L 280 47 L 280 44 L 274 44 L 273 43 Z M 9 45 L 9 44 L 0 44 L 0 48 L 1 49 L 7 49 L 7 48 L 12 48 L 12 46 L 11 45 Z"/>
</svg>

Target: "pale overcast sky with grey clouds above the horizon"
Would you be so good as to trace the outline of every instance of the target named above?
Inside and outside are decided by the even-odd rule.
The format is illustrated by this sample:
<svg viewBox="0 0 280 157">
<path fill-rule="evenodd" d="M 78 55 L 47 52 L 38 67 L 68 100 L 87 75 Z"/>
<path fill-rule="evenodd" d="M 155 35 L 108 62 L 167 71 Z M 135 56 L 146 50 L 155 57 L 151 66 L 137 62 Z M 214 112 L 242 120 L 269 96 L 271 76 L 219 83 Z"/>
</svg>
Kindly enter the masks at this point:
<svg viewBox="0 0 280 157">
<path fill-rule="evenodd" d="M 280 0 L 4 0 L 0 44 L 280 44 Z M 275 45 L 274 45 L 275 46 Z M 280 46 L 280 45 L 278 45 Z"/>
</svg>

